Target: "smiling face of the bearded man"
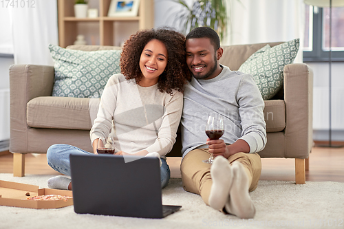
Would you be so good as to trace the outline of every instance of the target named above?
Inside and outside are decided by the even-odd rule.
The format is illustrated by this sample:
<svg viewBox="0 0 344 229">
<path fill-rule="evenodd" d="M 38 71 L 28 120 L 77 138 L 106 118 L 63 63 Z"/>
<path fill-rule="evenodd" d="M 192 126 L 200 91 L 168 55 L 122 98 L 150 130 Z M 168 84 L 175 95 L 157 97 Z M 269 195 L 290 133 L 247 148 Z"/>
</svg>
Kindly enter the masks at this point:
<svg viewBox="0 0 344 229">
<path fill-rule="evenodd" d="M 202 80 L 215 78 L 221 72 L 221 69 L 217 71 L 219 67 L 217 56 L 217 50 L 210 39 L 186 40 L 186 63 L 195 78 Z"/>
</svg>

